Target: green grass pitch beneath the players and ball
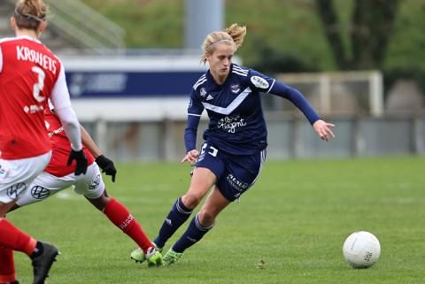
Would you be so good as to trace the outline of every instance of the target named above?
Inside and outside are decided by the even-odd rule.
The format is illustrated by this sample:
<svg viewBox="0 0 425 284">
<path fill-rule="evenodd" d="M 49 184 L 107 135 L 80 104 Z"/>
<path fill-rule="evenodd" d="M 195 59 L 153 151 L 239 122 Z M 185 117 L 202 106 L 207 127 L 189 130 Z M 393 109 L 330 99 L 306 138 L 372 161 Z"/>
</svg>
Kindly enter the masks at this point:
<svg viewBox="0 0 425 284">
<path fill-rule="evenodd" d="M 189 165 L 119 165 L 111 196 L 155 237 L 189 185 Z M 130 261 L 135 243 L 68 189 L 12 212 L 28 234 L 58 245 L 48 283 L 409 284 L 425 270 L 425 159 L 369 157 L 267 161 L 257 184 L 223 211 L 213 230 L 172 266 Z M 171 246 L 185 225 L 166 244 Z M 344 262 L 342 246 L 365 230 L 382 254 L 368 269 Z M 27 256 L 15 253 L 18 279 L 32 281 Z"/>
</svg>

